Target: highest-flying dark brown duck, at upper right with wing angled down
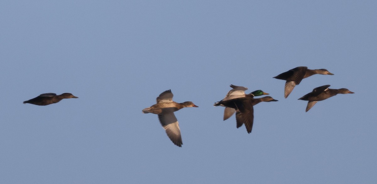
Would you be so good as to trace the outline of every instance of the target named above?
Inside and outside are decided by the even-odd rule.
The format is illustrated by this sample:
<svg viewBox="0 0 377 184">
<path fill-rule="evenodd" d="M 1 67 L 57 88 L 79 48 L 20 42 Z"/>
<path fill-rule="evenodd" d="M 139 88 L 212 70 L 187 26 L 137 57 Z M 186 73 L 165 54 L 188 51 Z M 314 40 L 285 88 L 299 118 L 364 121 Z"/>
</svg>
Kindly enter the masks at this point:
<svg viewBox="0 0 377 184">
<path fill-rule="evenodd" d="M 291 94 L 293 88 L 296 85 L 299 85 L 302 79 L 310 77 L 314 74 L 322 74 L 322 75 L 334 75 L 330 73 L 326 69 L 308 69 L 308 67 L 296 67 L 291 70 L 288 70 L 284 73 L 280 73 L 279 75 L 273 77 L 275 79 L 282 79 L 285 80 L 285 88 L 284 88 L 284 98 L 287 98 L 289 94 Z"/>
</svg>

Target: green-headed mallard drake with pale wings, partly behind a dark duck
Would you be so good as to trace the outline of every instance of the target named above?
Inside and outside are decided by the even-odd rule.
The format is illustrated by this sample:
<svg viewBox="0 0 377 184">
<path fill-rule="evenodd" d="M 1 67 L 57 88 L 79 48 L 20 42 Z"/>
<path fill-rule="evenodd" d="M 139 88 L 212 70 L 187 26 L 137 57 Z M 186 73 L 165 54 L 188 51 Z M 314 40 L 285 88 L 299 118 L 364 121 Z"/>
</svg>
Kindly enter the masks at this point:
<svg viewBox="0 0 377 184">
<path fill-rule="evenodd" d="M 245 97 L 245 91 L 248 90 L 247 87 L 236 86 L 233 84 L 231 84 L 230 87 L 233 88 L 233 90 L 230 90 L 228 94 L 224 97 L 224 99 L 222 99 L 221 101 Z M 261 96 L 261 95 L 267 95 L 268 93 L 265 93 L 262 90 L 256 90 L 256 91 L 251 92 L 250 94 L 253 96 Z M 219 102 L 216 102 L 214 106 L 224 106 L 224 105 L 222 105 Z M 235 112 L 236 112 L 235 109 L 225 106 L 224 121 L 229 119 Z"/>
</svg>

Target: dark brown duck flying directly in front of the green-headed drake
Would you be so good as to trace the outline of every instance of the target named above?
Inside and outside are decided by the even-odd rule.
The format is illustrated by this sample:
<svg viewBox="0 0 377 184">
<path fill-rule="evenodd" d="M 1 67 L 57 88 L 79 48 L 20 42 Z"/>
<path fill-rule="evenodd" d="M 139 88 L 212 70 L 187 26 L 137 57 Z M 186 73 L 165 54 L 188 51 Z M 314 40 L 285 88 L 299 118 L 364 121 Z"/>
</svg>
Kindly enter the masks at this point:
<svg viewBox="0 0 377 184">
<path fill-rule="evenodd" d="M 245 97 L 230 99 L 225 101 L 219 101 L 218 103 L 227 106 L 229 108 L 233 108 L 239 110 L 238 117 L 236 116 L 236 120 L 238 121 L 237 126 L 241 126 L 245 124 L 247 133 L 250 134 L 251 130 L 253 129 L 253 122 L 254 122 L 254 108 L 253 104 L 256 105 L 259 102 L 264 101 L 277 101 L 272 97 L 263 97 L 259 99 L 254 99 L 253 94 L 245 94 Z"/>
</svg>

